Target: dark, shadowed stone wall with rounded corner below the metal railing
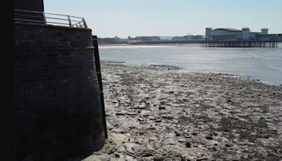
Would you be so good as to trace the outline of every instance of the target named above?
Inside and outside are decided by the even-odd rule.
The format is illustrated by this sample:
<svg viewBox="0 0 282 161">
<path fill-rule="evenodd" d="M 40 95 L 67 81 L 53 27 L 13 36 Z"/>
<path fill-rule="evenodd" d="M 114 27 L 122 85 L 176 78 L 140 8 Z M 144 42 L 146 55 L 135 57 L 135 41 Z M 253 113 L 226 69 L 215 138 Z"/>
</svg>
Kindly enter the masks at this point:
<svg viewBox="0 0 282 161">
<path fill-rule="evenodd" d="M 17 160 L 68 160 L 104 145 L 89 29 L 14 27 Z"/>
</svg>

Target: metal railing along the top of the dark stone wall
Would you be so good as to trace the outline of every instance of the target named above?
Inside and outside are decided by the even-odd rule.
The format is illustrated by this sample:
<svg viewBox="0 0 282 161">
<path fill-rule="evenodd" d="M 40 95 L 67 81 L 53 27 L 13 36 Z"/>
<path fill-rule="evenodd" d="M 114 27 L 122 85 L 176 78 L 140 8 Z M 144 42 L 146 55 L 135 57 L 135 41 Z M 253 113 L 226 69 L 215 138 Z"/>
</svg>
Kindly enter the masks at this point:
<svg viewBox="0 0 282 161">
<path fill-rule="evenodd" d="M 39 11 L 14 9 L 14 20 L 15 22 L 22 23 L 39 23 L 46 25 L 63 25 L 70 28 L 87 28 L 84 18 Z"/>
</svg>

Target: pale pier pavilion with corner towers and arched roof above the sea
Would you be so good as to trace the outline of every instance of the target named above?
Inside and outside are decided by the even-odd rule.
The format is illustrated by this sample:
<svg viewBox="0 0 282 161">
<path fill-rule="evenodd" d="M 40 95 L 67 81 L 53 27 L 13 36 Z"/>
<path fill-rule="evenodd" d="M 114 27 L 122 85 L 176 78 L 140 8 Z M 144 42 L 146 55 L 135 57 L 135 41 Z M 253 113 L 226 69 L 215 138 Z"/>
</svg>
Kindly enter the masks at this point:
<svg viewBox="0 0 282 161">
<path fill-rule="evenodd" d="M 233 28 L 206 28 L 206 40 L 281 40 L 281 34 L 269 34 L 268 28 L 261 32 L 250 32 L 250 28 L 237 30 Z"/>
</svg>

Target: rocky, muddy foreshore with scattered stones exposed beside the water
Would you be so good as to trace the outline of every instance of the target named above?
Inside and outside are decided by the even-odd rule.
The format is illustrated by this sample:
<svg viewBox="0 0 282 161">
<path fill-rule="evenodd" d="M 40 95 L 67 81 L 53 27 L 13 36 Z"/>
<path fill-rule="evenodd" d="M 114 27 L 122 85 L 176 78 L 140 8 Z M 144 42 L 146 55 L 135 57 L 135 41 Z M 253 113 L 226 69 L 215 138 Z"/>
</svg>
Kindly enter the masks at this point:
<svg viewBox="0 0 282 161">
<path fill-rule="evenodd" d="M 282 86 L 102 62 L 109 139 L 89 160 L 282 160 Z"/>
</svg>

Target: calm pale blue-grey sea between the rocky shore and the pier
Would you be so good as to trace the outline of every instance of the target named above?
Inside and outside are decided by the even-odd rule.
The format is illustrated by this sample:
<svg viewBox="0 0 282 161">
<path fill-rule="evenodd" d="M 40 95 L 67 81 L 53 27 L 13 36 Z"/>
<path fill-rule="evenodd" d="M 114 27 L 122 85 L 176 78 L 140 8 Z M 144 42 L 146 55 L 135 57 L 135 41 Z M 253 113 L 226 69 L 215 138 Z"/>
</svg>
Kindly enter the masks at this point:
<svg viewBox="0 0 282 161">
<path fill-rule="evenodd" d="M 241 74 L 282 84 L 282 45 L 278 48 L 200 48 L 164 46 L 99 46 L 102 61 L 180 66 L 185 72 Z"/>
</svg>

